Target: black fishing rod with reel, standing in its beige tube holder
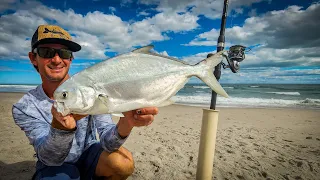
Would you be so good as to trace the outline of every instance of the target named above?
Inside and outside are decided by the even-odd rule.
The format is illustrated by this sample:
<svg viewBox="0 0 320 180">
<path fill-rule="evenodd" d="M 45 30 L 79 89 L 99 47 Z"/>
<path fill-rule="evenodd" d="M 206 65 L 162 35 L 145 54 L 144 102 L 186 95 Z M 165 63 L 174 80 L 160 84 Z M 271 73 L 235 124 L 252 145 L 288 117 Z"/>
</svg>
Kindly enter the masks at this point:
<svg viewBox="0 0 320 180">
<path fill-rule="evenodd" d="M 220 35 L 218 38 L 217 52 L 224 50 L 225 45 L 225 26 L 227 19 L 227 9 L 229 0 L 224 0 L 223 12 L 221 17 Z M 214 69 L 214 76 L 219 81 L 221 76 L 221 66 L 226 69 L 230 68 L 233 73 L 237 73 L 240 69 L 240 62 L 245 59 L 246 47 L 242 45 L 234 45 L 229 48 L 228 54 L 223 54 L 228 65 L 223 62 L 219 63 Z M 208 54 L 207 58 L 213 54 Z M 212 91 L 210 109 L 203 109 L 200 145 L 197 163 L 197 180 L 211 180 L 213 170 L 213 160 L 215 152 L 215 143 L 218 127 L 219 111 L 216 109 L 217 93 Z"/>
</svg>

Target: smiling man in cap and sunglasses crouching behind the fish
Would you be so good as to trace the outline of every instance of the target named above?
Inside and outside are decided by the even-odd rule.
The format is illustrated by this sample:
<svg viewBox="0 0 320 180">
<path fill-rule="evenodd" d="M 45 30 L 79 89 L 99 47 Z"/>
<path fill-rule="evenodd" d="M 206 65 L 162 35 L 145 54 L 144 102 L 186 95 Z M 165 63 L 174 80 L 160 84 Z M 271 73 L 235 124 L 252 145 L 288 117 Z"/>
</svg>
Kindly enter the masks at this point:
<svg viewBox="0 0 320 180">
<path fill-rule="evenodd" d="M 40 25 L 31 46 L 29 58 L 42 84 L 14 104 L 12 114 L 38 158 L 33 178 L 126 179 L 133 173 L 134 163 L 131 153 L 121 146 L 133 127 L 151 124 L 158 109 L 124 112 L 117 124 L 110 115 L 62 116 L 52 106 L 53 92 L 69 78 L 72 52 L 81 46 L 54 25 Z"/>
</svg>

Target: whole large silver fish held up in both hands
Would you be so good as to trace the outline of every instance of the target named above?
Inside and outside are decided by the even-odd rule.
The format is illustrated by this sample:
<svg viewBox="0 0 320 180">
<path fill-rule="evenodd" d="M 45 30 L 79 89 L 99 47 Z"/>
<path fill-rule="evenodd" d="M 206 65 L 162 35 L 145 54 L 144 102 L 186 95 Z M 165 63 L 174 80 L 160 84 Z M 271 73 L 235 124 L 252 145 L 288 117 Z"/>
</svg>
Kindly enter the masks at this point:
<svg viewBox="0 0 320 180">
<path fill-rule="evenodd" d="M 122 113 L 130 110 L 173 104 L 171 98 L 192 76 L 228 97 L 213 75 L 224 51 L 191 65 L 152 52 L 153 48 L 144 46 L 74 74 L 54 91 L 54 107 L 64 116 L 72 113 L 123 117 Z"/>
</svg>

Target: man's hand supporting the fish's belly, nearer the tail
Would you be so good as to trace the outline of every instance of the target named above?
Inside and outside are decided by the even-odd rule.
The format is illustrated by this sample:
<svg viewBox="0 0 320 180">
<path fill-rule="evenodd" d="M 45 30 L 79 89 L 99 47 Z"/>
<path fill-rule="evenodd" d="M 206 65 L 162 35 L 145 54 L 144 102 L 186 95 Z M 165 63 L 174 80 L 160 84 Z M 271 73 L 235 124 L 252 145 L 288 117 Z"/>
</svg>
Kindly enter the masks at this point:
<svg viewBox="0 0 320 180">
<path fill-rule="evenodd" d="M 133 127 L 150 125 L 158 112 L 159 110 L 157 107 L 148 107 L 124 112 L 124 117 L 120 118 L 117 124 L 119 135 L 121 137 L 127 137 Z"/>
</svg>

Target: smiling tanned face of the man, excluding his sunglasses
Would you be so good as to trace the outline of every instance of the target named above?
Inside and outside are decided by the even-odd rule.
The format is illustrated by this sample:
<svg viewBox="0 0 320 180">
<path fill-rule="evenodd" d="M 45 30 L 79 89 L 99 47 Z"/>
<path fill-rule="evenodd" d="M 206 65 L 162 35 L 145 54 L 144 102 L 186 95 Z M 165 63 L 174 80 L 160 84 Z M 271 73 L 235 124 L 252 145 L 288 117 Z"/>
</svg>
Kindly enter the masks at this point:
<svg viewBox="0 0 320 180">
<path fill-rule="evenodd" d="M 67 47 L 61 44 L 41 44 L 38 47 L 67 49 Z M 68 78 L 71 59 L 62 59 L 59 57 L 58 53 L 56 53 L 53 58 L 42 58 L 36 54 L 33 58 L 30 57 L 30 60 L 33 65 L 38 66 L 42 78 L 46 78 L 49 81 L 63 81 Z"/>
</svg>

